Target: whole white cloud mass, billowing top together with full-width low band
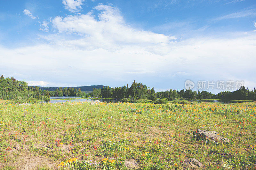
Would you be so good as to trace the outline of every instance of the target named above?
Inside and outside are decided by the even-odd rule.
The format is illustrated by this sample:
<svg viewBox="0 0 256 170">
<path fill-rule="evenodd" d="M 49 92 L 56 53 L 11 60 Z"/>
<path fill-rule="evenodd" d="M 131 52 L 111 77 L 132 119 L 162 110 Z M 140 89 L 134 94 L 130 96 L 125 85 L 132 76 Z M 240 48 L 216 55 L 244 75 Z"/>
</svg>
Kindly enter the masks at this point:
<svg viewBox="0 0 256 170">
<path fill-rule="evenodd" d="M 49 26 L 52 24 L 57 33 L 40 36 L 48 44 L 14 49 L 0 46 L 0 72 L 29 75 L 25 80 L 33 81 L 31 85 L 43 86 L 54 86 L 54 82 L 85 85 L 82 80 L 87 85 L 108 85 L 134 78 L 143 81 L 143 76 L 148 82 L 161 79 L 170 85 L 173 79 L 182 80 L 182 88 L 185 79 L 256 79 L 255 32 L 176 42 L 170 35 L 129 25 L 111 6 L 100 4 L 94 10 L 99 11 L 97 17 L 87 13 L 53 18 Z M 250 86 L 256 86 L 256 82 L 250 82 Z"/>
</svg>

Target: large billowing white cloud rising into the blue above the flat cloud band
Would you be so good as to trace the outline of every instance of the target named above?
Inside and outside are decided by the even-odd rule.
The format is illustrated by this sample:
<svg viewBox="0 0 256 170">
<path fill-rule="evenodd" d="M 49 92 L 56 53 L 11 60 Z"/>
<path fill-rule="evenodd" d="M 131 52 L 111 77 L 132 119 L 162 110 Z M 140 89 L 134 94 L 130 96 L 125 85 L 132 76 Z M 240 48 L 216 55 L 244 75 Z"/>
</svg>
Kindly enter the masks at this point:
<svg viewBox="0 0 256 170">
<path fill-rule="evenodd" d="M 52 19 L 52 24 L 59 33 L 80 36 L 78 39 L 66 42 L 67 44 L 90 50 L 96 48 L 116 50 L 136 44 L 157 51 L 166 48 L 165 46 L 176 38 L 129 26 L 117 8 L 99 4 L 94 9 L 100 11 L 99 19 L 89 12 L 64 18 L 55 17 Z"/>
</svg>

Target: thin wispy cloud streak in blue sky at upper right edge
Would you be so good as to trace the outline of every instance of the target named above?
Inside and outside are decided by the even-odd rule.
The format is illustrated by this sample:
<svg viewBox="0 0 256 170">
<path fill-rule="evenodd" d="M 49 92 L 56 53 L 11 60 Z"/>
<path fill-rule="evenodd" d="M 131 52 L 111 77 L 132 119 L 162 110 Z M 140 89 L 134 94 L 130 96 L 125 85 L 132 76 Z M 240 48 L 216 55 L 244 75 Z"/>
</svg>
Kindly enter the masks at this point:
<svg viewBox="0 0 256 170">
<path fill-rule="evenodd" d="M 244 10 L 244 11 L 224 15 L 218 18 L 214 18 L 213 21 L 219 21 L 219 20 L 231 19 L 231 18 L 240 18 L 240 17 L 253 17 L 253 16 L 256 16 L 256 10 L 250 9 L 250 10 Z"/>
</svg>

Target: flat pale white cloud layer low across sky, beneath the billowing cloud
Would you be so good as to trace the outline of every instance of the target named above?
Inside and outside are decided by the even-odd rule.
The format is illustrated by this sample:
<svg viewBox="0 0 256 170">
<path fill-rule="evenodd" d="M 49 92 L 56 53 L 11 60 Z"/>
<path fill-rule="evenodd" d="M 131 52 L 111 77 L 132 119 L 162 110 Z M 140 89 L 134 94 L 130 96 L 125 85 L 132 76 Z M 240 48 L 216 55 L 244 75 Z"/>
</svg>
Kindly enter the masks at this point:
<svg viewBox="0 0 256 170">
<path fill-rule="evenodd" d="M 146 47 L 126 46 L 115 51 L 68 48 L 65 43 L 16 49 L 0 47 L 0 71 L 5 73 L 4 65 L 8 65 L 11 72 L 19 71 L 24 75 L 33 72 L 30 79 L 47 78 L 49 82 L 70 84 L 81 79 L 101 80 L 106 84 L 133 78 L 140 81 L 140 77 L 145 75 L 148 82 L 144 84 L 158 78 L 170 83 L 172 78 L 179 78 L 181 83 L 188 78 L 195 81 L 196 78 L 256 79 L 252 74 L 256 62 L 255 34 L 231 39 L 205 37 L 183 40 L 173 43 L 165 55 L 148 52 Z M 256 84 L 251 85 L 254 87 Z"/>
</svg>

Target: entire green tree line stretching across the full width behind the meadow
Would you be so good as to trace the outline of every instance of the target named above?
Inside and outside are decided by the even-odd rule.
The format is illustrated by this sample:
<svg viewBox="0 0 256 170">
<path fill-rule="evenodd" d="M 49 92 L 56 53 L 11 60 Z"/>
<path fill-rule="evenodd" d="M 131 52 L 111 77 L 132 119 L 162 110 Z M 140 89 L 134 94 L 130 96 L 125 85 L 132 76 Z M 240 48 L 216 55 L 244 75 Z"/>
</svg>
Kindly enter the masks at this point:
<svg viewBox="0 0 256 170">
<path fill-rule="evenodd" d="M 156 100 L 177 98 L 183 99 L 220 99 L 220 100 L 256 100 L 256 89 L 249 90 L 242 86 L 241 89 L 234 92 L 223 91 L 217 94 L 212 92 L 192 91 L 192 90 L 169 90 L 164 92 L 155 92 L 142 83 L 132 82 L 132 85 L 124 85 L 123 87 L 105 87 L 101 89 L 93 89 L 89 94 L 82 92 L 80 88 L 59 87 L 55 91 L 40 90 L 39 87 L 28 86 L 25 81 L 12 78 L 0 77 L 0 99 L 2 100 L 50 100 L 51 96 L 92 96 L 93 98 L 114 98 L 114 99 L 151 99 Z"/>
</svg>

